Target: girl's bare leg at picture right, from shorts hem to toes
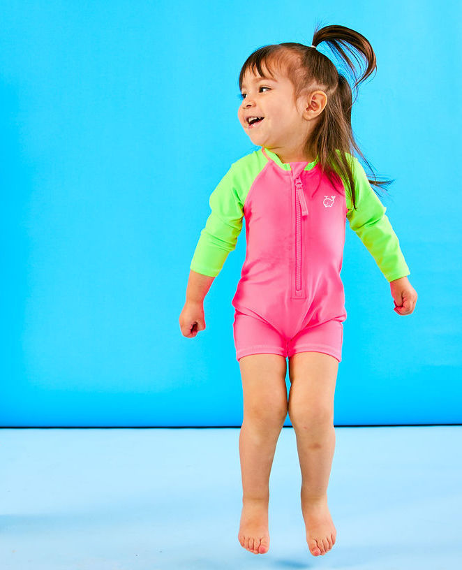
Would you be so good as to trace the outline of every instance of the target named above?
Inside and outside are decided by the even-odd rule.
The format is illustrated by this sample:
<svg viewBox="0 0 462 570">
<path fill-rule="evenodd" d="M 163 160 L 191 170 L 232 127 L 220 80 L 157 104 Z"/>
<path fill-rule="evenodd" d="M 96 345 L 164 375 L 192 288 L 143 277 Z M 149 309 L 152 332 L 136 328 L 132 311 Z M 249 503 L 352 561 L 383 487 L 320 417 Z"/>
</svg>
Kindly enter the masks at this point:
<svg viewBox="0 0 462 570">
<path fill-rule="evenodd" d="M 306 541 L 314 556 L 327 553 L 336 528 L 327 506 L 327 486 L 335 448 L 334 392 L 338 360 L 319 352 L 289 359 L 289 416 L 297 437 L 301 469 L 301 511 Z"/>
</svg>

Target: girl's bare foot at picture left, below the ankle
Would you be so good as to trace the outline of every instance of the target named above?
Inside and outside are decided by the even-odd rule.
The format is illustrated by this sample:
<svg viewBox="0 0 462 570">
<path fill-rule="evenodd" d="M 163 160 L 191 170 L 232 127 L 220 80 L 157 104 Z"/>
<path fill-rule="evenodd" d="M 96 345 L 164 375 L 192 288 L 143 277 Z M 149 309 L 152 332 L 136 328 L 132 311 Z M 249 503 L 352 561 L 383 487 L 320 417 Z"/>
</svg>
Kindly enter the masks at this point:
<svg viewBox="0 0 462 570">
<path fill-rule="evenodd" d="M 241 525 L 237 539 L 253 554 L 269 550 L 268 500 L 246 499 L 242 504 Z"/>
</svg>

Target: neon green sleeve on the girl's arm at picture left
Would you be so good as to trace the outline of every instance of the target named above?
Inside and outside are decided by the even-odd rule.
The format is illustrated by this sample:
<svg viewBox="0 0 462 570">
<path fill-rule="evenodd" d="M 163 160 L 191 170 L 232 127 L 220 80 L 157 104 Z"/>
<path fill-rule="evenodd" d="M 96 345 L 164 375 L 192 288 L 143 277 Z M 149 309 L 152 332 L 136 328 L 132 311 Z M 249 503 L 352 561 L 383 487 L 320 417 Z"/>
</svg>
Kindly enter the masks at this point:
<svg viewBox="0 0 462 570">
<path fill-rule="evenodd" d="M 209 277 L 216 277 L 221 272 L 242 229 L 244 206 L 239 198 L 233 166 L 210 195 L 211 214 L 200 233 L 190 265 L 193 271 Z"/>
</svg>

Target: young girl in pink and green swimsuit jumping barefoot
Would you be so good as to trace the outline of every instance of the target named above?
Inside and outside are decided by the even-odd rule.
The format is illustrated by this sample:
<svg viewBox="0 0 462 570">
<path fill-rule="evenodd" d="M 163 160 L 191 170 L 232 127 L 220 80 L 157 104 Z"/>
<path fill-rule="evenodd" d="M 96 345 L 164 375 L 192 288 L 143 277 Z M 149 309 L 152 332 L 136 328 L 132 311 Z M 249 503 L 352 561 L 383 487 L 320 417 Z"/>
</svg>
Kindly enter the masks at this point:
<svg viewBox="0 0 462 570">
<path fill-rule="evenodd" d="M 368 180 L 352 155 L 354 148 L 363 156 L 352 135 L 352 89 L 316 49 L 321 42 L 351 70 L 343 47 L 366 59 L 355 87 L 376 68 L 370 43 L 343 26 L 316 29 L 312 45 L 267 45 L 248 57 L 238 117 L 260 148 L 232 163 L 211 193 L 179 317 L 185 337 L 204 330 L 204 297 L 245 217 L 246 259 L 232 300 L 244 393 L 238 539 L 255 554 L 269 549 L 269 474 L 287 414 L 297 438 L 308 548 L 324 555 L 336 541 L 327 485 L 346 319 L 340 277 L 346 219 L 390 283 L 394 311 L 410 314 L 417 300 L 386 208 L 370 185 L 385 182 Z"/>
</svg>

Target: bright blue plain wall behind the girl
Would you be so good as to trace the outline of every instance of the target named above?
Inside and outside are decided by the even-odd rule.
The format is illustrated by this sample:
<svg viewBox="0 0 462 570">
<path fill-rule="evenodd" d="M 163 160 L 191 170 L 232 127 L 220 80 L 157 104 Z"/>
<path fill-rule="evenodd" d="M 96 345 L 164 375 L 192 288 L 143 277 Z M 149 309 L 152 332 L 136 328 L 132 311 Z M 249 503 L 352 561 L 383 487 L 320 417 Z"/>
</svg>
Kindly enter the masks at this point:
<svg viewBox="0 0 462 570">
<path fill-rule="evenodd" d="M 0 424 L 240 425 L 244 231 L 206 330 L 187 339 L 178 319 L 209 195 L 255 149 L 237 120 L 241 65 L 268 43 L 311 43 L 319 20 L 377 54 L 353 128 L 396 180 L 382 201 L 419 294 L 398 316 L 347 226 L 334 421 L 461 422 L 462 70 L 448 10 L 461 21 L 458 3 L 396 0 L 3 3 Z"/>
</svg>

